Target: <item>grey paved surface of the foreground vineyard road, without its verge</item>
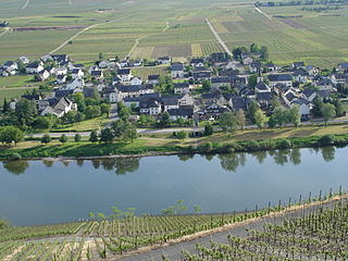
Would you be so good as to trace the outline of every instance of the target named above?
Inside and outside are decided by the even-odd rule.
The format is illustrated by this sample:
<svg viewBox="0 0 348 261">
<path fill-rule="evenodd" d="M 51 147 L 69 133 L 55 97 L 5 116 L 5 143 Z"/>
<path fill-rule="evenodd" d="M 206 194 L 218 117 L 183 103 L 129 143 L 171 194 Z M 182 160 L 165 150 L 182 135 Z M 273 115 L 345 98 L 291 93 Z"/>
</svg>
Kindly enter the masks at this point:
<svg viewBox="0 0 348 261">
<path fill-rule="evenodd" d="M 334 202 L 338 202 L 338 200 L 326 202 L 322 204 L 324 208 L 332 208 Z M 347 202 L 347 198 L 346 198 Z M 220 244 L 227 244 L 227 236 L 233 235 L 236 237 L 246 237 L 248 235 L 247 229 L 254 229 L 254 231 L 262 231 L 263 226 L 268 223 L 272 224 L 281 224 L 285 220 L 295 219 L 295 217 L 302 217 L 309 214 L 311 211 L 318 210 L 319 206 L 310 206 L 306 208 L 298 209 L 296 211 L 289 211 L 285 214 L 281 214 L 277 216 L 264 217 L 258 220 L 256 222 L 249 223 L 247 225 L 240 225 L 224 232 L 220 232 L 213 234 L 211 236 L 204 236 L 198 239 L 194 239 L 190 241 L 175 244 L 169 247 L 151 250 L 149 252 L 144 252 L 137 256 L 130 256 L 126 258 L 122 258 L 122 261 L 161 261 L 162 254 L 164 253 L 170 260 L 181 260 L 182 258 L 182 250 L 186 250 L 189 252 L 195 252 L 195 245 L 201 244 L 203 246 L 210 247 L 210 241 L 213 240 Z"/>
</svg>

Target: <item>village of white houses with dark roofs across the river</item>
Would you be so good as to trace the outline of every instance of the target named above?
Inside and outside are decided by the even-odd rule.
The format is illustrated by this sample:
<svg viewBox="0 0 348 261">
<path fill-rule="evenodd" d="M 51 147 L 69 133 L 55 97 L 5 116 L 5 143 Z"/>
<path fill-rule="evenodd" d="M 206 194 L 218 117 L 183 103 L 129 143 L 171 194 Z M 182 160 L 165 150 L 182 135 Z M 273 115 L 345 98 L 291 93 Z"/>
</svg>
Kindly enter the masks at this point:
<svg viewBox="0 0 348 261">
<path fill-rule="evenodd" d="M 140 115 L 159 119 L 166 113 L 172 121 L 186 120 L 188 126 L 219 120 L 225 112 L 243 111 L 248 115 L 252 102 L 268 116 L 274 102 L 285 109 L 296 105 L 301 121 L 309 121 L 315 116 L 315 100 L 347 101 L 348 63 L 321 70 L 301 61 L 279 66 L 262 60 L 260 52 L 241 51 L 234 57 L 212 53 L 186 63 L 173 62 L 171 57 L 151 62 L 100 59 L 86 67 L 66 54 L 48 54 L 35 61 L 26 57 L 7 61 L 0 66 L 0 75 L 29 74 L 37 82 L 53 83 L 49 92 L 34 91 L 22 99 L 34 101 L 38 115 L 58 119 L 79 111 L 74 100 L 76 94 L 84 98 L 97 95 L 108 104 L 123 103 L 132 109 L 133 121 L 139 121 Z M 158 66 L 165 67 L 167 73 L 147 78 L 133 73 L 137 67 Z M 17 102 L 18 99 L 13 99 L 7 104 L 15 110 Z"/>
</svg>

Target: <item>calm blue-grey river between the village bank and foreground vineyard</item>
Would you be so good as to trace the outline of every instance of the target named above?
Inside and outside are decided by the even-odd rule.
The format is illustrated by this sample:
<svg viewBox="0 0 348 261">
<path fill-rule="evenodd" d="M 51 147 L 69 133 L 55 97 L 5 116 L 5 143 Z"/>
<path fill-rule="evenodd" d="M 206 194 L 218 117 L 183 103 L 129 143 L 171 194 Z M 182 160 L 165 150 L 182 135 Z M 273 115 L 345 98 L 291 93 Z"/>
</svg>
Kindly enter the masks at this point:
<svg viewBox="0 0 348 261">
<path fill-rule="evenodd" d="M 40 225 L 135 208 L 160 214 L 184 200 L 192 212 L 228 212 L 348 188 L 348 148 L 94 161 L 0 162 L 0 219 Z"/>
</svg>

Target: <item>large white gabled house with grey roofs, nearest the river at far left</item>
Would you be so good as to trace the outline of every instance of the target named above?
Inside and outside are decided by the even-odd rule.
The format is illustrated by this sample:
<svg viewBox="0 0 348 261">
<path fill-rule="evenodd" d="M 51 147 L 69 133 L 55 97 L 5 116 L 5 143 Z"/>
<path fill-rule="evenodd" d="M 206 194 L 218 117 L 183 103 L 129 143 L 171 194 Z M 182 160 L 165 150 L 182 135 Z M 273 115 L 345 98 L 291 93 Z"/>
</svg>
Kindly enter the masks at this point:
<svg viewBox="0 0 348 261">
<path fill-rule="evenodd" d="M 47 100 L 47 107 L 42 110 L 41 115 L 53 114 L 58 117 L 64 116 L 70 111 L 77 111 L 76 103 L 72 102 L 66 97 L 64 98 L 52 98 Z M 44 108 L 44 105 L 42 105 Z"/>
</svg>

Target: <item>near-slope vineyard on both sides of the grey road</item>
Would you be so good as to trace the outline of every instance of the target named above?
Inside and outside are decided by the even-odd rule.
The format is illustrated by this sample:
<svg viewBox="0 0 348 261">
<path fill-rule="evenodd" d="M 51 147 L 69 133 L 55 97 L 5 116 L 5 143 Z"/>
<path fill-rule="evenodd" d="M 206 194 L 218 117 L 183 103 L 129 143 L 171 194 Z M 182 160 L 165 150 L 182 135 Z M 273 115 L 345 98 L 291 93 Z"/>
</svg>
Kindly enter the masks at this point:
<svg viewBox="0 0 348 261">
<path fill-rule="evenodd" d="M 319 201 L 310 196 L 306 202 L 312 202 L 308 204 L 311 210 L 304 217 L 268 224 L 262 232 L 249 231 L 247 238 L 229 236 L 228 245 L 211 243 L 210 248 L 197 245 L 197 253 L 184 251 L 183 260 L 345 260 L 348 257 L 346 200 L 344 196 Z M 304 201 L 279 202 L 261 210 L 256 206 L 238 213 L 113 219 L 100 215 L 88 222 L 8 227 L 0 229 L 0 260 L 113 260 L 141 247 L 159 247 L 199 232 L 208 236 L 219 227 L 283 215 L 294 208 L 304 210 L 306 206 L 299 202 Z"/>
</svg>

